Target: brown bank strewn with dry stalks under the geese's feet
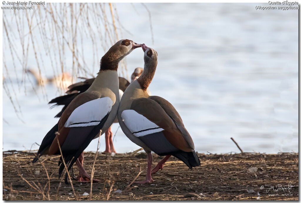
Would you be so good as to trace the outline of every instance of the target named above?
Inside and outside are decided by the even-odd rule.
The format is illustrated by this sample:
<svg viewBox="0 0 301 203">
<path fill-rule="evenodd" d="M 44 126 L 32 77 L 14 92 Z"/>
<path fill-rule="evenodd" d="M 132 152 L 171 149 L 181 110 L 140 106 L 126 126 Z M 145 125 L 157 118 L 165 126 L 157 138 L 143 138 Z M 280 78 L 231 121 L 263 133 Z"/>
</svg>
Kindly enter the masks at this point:
<svg viewBox="0 0 301 203">
<path fill-rule="evenodd" d="M 84 154 L 91 174 L 95 154 Z M 198 154 L 201 166 L 192 171 L 171 157 L 152 175 L 151 185 L 130 184 L 145 178 L 145 153 L 98 153 L 95 178 L 100 183 L 57 178 L 59 156 L 32 164 L 33 153 L 3 152 L 3 200 L 298 200 L 299 154 Z M 153 154 L 153 167 L 163 158 Z M 47 178 L 47 173 L 49 181 Z M 74 173 L 77 174 L 77 167 Z M 50 187 L 49 187 L 50 185 Z M 74 194 L 75 193 L 75 194 Z M 90 196 L 91 193 L 91 196 Z"/>
</svg>

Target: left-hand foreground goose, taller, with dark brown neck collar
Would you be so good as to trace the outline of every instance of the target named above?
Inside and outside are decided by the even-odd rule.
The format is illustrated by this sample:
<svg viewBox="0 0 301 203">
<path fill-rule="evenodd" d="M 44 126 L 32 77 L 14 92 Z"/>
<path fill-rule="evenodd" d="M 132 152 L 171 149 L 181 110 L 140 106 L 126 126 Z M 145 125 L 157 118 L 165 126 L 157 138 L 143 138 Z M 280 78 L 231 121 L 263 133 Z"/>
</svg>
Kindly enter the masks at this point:
<svg viewBox="0 0 301 203">
<path fill-rule="evenodd" d="M 61 154 L 61 147 L 59 178 L 64 170 L 63 157 L 68 171 L 74 162 L 79 167 L 76 180 L 91 181 L 83 167 L 83 151 L 93 139 L 99 137 L 99 133 L 107 131 L 116 118 L 119 106 L 118 64 L 137 47 L 141 44 L 120 40 L 108 50 L 101 58 L 98 76 L 88 90 L 70 102 L 58 123 L 46 134 L 33 163 L 44 154 Z M 97 179 L 93 181 L 99 182 Z M 65 183 L 68 184 L 67 174 Z"/>
</svg>

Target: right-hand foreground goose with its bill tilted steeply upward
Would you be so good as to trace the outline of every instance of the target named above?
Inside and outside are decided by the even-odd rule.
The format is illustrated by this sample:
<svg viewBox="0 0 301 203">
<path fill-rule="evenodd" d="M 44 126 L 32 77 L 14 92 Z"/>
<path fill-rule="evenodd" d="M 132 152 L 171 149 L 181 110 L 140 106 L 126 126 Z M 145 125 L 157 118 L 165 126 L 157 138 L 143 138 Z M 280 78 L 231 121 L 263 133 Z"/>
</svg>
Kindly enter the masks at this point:
<svg viewBox="0 0 301 203">
<path fill-rule="evenodd" d="M 157 67 L 157 52 L 145 44 L 142 44 L 142 49 L 144 71 L 126 88 L 117 117 L 124 134 L 147 153 L 146 178 L 138 183 L 151 183 L 154 181 L 151 174 L 162 169 L 171 155 L 183 161 L 191 170 L 192 167 L 200 166 L 200 160 L 194 151 L 192 138 L 175 108 L 162 97 L 147 94 L 147 87 Z M 151 151 L 166 156 L 153 170 Z"/>
</svg>

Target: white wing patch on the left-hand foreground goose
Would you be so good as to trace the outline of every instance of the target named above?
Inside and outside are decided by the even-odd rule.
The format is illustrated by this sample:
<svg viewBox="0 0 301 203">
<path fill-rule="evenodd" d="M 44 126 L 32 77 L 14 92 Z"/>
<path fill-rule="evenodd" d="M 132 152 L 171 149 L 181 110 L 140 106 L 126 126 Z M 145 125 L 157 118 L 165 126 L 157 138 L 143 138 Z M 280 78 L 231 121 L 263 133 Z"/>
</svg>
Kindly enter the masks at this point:
<svg viewBox="0 0 301 203">
<path fill-rule="evenodd" d="M 98 98 L 88 101 L 71 113 L 65 127 L 85 127 L 98 125 L 112 109 L 113 101 L 110 97 Z"/>
</svg>

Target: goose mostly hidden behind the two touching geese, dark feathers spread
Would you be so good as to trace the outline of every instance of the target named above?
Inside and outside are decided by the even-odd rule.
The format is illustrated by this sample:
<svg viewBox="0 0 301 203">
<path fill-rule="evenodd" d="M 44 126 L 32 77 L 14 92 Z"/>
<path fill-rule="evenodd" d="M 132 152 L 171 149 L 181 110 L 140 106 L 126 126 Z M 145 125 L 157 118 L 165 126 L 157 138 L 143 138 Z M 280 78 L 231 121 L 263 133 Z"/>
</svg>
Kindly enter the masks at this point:
<svg viewBox="0 0 301 203">
<path fill-rule="evenodd" d="M 143 68 L 135 68 L 135 71 L 132 74 L 132 81 L 136 80 L 139 78 L 139 76 L 142 74 Z M 85 79 L 85 81 L 82 82 L 77 82 L 75 84 L 72 84 L 68 87 L 68 91 L 66 92 L 67 95 L 56 97 L 53 100 L 49 102 L 54 103 L 51 108 L 54 106 L 58 105 L 64 105 L 63 109 L 55 116 L 55 118 L 61 117 L 62 113 L 64 110 L 67 108 L 67 106 L 70 104 L 70 102 L 79 94 L 85 92 L 93 83 L 95 78 L 82 78 Z M 121 99 L 123 92 L 126 90 L 126 88 L 129 86 L 129 81 L 125 78 L 119 77 L 119 99 Z M 118 119 L 116 116 L 116 119 L 114 120 L 114 123 L 118 123 Z M 113 145 L 113 132 L 111 129 L 112 126 L 105 132 L 105 143 L 106 143 L 106 150 L 104 151 L 105 153 L 116 153 L 114 145 Z"/>
</svg>

